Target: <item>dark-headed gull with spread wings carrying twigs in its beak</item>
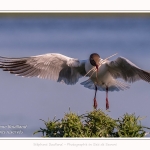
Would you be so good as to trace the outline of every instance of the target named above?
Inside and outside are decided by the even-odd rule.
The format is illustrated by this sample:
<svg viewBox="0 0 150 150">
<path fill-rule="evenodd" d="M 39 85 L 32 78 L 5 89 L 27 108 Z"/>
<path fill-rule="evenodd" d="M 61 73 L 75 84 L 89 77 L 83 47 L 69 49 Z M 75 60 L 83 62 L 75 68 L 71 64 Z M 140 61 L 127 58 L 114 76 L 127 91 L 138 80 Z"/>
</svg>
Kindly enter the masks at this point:
<svg viewBox="0 0 150 150">
<path fill-rule="evenodd" d="M 109 58 L 101 59 L 97 53 L 91 54 L 87 60 L 74 59 L 58 53 L 22 58 L 0 57 L 0 68 L 18 76 L 53 79 L 68 85 L 77 83 L 80 77 L 89 77 L 81 85 L 95 90 L 94 108 L 97 108 L 96 93 L 100 90 L 106 91 L 106 109 L 109 109 L 108 91 L 129 88 L 117 78 L 129 83 L 140 79 L 150 82 L 150 73 L 128 59 L 118 57 L 109 61 Z"/>
</svg>

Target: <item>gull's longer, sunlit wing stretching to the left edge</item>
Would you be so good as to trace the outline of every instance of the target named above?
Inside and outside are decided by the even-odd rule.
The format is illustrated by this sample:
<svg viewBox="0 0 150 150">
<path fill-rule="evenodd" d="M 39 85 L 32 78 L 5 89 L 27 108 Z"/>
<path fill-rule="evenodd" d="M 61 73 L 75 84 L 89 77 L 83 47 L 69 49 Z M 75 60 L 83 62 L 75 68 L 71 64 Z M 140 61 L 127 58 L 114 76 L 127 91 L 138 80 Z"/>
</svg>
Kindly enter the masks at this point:
<svg viewBox="0 0 150 150">
<path fill-rule="evenodd" d="M 22 58 L 0 57 L 0 68 L 18 76 L 52 79 L 66 84 L 75 84 L 86 74 L 85 61 L 57 53 Z"/>
</svg>

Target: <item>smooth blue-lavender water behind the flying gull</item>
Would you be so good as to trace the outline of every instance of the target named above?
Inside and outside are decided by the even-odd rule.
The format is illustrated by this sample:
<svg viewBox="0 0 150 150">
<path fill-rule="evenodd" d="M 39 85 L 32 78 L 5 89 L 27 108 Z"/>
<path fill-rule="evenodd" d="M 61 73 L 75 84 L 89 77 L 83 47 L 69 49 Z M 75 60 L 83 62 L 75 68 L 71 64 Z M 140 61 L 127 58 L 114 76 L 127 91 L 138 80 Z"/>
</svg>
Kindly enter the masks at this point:
<svg viewBox="0 0 150 150">
<path fill-rule="evenodd" d="M 114 53 L 150 70 L 149 17 L 1 17 L 0 56 L 27 57 L 61 53 L 87 59 L 93 52 L 106 58 Z M 27 125 L 22 134 L 0 134 L 0 137 L 40 137 L 33 135 L 39 120 L 60 119 L 65 112 L 83 114 L 93 109 L 94 91 L 80 82 L 74 86 L 51 80 L 22 78 L 0 70 L 0 126 Z M 105 111 L 105 92 L 97 94 L 98 107 Z M 110 92 L 111 117 L 125 113 L 146 117 L 150 127 L 150 84 L 139 81 L 124 92 Z M 0 128 L 0 131 L 7 131 Z M 12 130 L 12 129 L 9 129 Z M 19 129 L 13 129 L 19 130 Z"/>
</svg>

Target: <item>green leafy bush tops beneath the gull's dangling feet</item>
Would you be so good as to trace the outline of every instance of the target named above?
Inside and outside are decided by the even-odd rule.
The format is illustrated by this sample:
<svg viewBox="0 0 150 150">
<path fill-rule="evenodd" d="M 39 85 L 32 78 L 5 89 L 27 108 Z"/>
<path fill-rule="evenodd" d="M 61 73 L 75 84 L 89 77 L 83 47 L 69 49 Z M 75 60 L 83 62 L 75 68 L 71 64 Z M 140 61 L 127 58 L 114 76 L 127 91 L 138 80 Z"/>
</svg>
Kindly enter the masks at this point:
<svg viewBox="0 0 150 150">
<path fill-rule="evenodd" d="M 100 109 L 82 115 L 69 111 L 62 119 L 42 121 L 45 128 L 34 132 L 42 137 L 145 137 L 150 130 L 135 114 L 126 113 L 115 120 Z"/>
</svg>

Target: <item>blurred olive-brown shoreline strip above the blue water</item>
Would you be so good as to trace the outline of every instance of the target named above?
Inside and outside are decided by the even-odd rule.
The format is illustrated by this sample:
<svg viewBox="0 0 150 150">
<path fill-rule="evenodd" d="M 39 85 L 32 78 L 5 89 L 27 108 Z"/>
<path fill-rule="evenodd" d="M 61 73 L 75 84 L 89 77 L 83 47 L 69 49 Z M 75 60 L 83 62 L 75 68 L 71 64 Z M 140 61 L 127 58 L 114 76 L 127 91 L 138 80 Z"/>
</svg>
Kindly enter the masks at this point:
<svg viewBox="0 0 150 150">
<path fill-rule="evenodd" d="M 150 17 L 149 12 L 0 12 L 0 17 Z"/>
</svg>

